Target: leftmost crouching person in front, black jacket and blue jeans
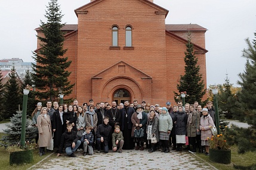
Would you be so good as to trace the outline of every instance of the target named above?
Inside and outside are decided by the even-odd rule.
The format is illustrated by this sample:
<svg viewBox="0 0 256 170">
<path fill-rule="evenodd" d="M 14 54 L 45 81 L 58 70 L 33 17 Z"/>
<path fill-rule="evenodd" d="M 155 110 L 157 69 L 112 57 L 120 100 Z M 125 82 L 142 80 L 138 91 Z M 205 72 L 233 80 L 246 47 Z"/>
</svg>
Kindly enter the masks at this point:
<svg viewBox="0 0 256 170">
<path fill-rule="evenodd" d="M 72 124 L 67 124 L 67 130 L 61 136 L 60 147 L 58 147 L 57 156 L 61 156 L 61 152 L 64 146 L 64 149 L 66 150 L 68 156 L 76 157 L 74 152 L 80 146 L 81 141 L 78 140 L 78 135 L 76 134 L 76 131 L 72 130 L 72 128 Z"/>
</svg>

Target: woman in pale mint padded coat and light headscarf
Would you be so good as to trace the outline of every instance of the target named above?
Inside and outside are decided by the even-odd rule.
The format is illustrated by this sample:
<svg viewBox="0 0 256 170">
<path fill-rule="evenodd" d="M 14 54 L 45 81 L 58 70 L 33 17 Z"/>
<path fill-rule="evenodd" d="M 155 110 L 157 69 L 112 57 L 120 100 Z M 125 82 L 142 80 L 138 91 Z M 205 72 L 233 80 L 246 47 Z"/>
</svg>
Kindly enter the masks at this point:
<svg viewBox="0 0 256 170">
<path fill-rule="evenodd" d="M 162 152 L 168 153 L 169 150 L 169 135 L 172 130 L 172 118 L 168 113 L 168 109 L 163 107 L 159 115 L 159 140 L 162 141 L 163 150 Z"/>
</svg>

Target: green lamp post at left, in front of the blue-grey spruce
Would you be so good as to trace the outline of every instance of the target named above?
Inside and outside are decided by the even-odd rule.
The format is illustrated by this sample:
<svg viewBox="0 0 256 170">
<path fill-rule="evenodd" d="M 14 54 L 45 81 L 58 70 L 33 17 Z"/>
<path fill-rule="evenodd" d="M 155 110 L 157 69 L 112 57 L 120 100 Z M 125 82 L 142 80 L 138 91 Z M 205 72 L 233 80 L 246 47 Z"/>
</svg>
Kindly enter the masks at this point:
<svg viewBox="0 0 256 170">
<path fill-rule="evenodd" d="M 23 89 L 23 107 L 22 107 L 22 117 L 21 117 L 21 147 L 25 146 L 25 134 L 26 134 L 26 114 L 27 114 L 27 95 L 29 95 L 28 89 Z"/>
</svg>

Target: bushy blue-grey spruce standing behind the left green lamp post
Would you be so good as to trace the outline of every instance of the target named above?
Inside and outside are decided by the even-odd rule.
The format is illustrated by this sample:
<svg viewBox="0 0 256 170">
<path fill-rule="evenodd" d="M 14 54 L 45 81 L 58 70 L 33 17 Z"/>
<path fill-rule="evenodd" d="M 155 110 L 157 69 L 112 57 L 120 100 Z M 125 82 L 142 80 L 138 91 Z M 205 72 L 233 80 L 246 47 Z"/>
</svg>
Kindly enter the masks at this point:
<svg viewBox="0 0 256 170">
<path fill-rule="evenodd" d="M 17 111 L 16 114 L 13 114 L 11 117 L 10 124 L 7 124 L 7 129 L 4 130 L 4 133 L 7 135 L 2 136 L 1 141 L 2 145 L 16 144 L 20 142 L 21 138 L 21 118 L 22 111 Z M 36 128 L 32 127 L 32 122 L 30 119 L 26 120 L 26 134 L 25 140 L 32 141 L 36 136 Z"/>
</svg>

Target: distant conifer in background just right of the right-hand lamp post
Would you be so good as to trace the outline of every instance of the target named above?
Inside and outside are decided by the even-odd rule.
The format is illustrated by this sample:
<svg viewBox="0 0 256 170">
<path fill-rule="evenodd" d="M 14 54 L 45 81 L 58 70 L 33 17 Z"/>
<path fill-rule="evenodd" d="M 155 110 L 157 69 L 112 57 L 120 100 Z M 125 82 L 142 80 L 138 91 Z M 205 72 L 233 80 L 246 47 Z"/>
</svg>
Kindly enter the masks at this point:
<svg viewBox="0 0 256 170">
<path fill-rule="evenodd" d="M 236 105 L 235 94 L 232 94 L 231 88 L 233 84 L 230 84 L 229 77 L 225 78 L 225 83 L 218 86 L 218 107 L 219 112 L 225 114 L 226 118 L 232 118 L 232 109 Z"/>
</svg>

